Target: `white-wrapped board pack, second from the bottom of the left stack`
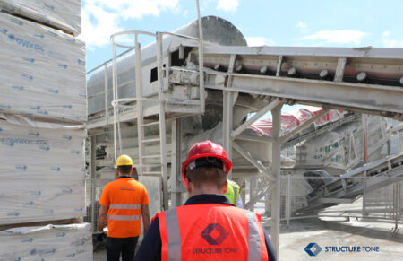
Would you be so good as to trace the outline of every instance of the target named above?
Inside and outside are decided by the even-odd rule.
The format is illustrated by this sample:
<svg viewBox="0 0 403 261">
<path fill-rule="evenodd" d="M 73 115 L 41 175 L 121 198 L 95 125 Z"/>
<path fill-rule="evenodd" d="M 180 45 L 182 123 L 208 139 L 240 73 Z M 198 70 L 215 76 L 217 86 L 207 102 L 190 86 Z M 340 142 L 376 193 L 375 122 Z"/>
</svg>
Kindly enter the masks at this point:
<svg viewBox="0 0 403 261">
<path fill-rule="evenodd" d="M 0 225 L 85 215 L 81 126 L 0 114 Z"/>
</svg>

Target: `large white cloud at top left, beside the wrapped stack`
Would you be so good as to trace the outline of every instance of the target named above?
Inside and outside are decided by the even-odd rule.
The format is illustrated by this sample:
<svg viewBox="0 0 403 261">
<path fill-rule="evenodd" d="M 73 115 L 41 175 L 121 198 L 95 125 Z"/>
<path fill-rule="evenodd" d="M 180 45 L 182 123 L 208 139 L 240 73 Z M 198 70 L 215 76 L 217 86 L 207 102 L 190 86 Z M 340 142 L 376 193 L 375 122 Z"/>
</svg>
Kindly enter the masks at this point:
<svg viewBox="0 0 403 261">
<path fill-rule="evenodd" d="M 88 48 L 105 46 L 110 43 L 111 34 L 128 30 L 123 28 L 123 22 L 141 19 L 145 15 L 159 16 L 161 11 L 166 10 L 177 13 L 178 1 L 85 0 L 82 4 L 82 32 L 79 38 L 86 41 Z"/>
</svg>

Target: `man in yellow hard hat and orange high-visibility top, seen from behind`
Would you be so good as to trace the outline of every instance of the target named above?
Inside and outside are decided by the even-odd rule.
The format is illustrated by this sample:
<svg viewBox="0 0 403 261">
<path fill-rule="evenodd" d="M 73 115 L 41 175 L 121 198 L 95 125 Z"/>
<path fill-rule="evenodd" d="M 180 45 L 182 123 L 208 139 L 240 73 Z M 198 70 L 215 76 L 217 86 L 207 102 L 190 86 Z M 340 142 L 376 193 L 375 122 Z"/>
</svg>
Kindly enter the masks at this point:
<svg viewBox="0 0 403 261">
<path fill-rule="evenodd" d="M 115 181 L 107 183 L 99 200 L 97 239 L 105 237 L 107 222 L 107 261 L 133 261 L 137 239 L 150 226 L 149 196 L 146 188 L 132 178 L 133 161 L 122 155 L 116 161 Z"/>
</svg>

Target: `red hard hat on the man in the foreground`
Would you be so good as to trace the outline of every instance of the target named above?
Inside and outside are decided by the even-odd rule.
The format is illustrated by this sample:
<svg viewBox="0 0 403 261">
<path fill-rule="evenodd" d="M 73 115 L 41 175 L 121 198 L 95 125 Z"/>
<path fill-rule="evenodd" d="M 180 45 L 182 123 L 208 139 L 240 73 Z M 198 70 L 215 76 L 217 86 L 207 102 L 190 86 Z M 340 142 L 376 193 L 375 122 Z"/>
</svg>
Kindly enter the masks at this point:
<svg viewBox="0 0 403 261">
<path fill-rule="evenodd" d="M 211 141 L 204 141 L 201 143 L 194 144 L 187 153 L 187 159 L 182 164 L 182 179 L 184 180 L 184 184 L 186 184 L 185 177 L 186 177 L 187 165 L 196 159 L 208 158 L 208 157 L 218 158 L 222 160 L 224 163 L 223 166 L 224 171 L 228 175 L 229 170 L 231 170 L 232 167 L 232 162 L 229 161 L 227 152 L 219 144 L 214 144 Z"/>
</svg>

